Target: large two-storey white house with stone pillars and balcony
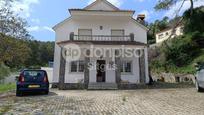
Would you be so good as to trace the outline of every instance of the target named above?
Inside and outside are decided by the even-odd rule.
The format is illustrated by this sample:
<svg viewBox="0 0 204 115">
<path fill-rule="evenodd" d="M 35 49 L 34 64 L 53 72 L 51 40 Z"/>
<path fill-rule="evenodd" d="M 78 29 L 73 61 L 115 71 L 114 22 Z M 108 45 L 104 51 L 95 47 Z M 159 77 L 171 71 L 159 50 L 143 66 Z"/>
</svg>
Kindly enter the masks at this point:
<svg viewBox="0 0 204 115">
<path fill-rule="evenodd" d="M 69 18 L 53 27 L 54 86 L 127 89 L 149 82 L 148 28 L 133 18 L 134 11 L 96 0 L 69 13 Z"/>
</svg>

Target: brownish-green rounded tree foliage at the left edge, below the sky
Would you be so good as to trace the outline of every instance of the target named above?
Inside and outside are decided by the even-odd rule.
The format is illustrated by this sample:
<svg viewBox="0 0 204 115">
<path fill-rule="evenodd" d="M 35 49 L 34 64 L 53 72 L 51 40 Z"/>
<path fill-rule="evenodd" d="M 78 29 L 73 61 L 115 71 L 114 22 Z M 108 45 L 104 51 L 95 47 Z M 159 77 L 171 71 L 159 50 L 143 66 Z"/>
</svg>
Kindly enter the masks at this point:
<svg viewBox="0 0 204 115">
<path fill-rule="evenodd" d="M 4 34 L 0 34 L 0 62 L 9 67 L 20 67 L 24 65 L 29 57 L 30 48 L 26 42 Z"/>
</svg>

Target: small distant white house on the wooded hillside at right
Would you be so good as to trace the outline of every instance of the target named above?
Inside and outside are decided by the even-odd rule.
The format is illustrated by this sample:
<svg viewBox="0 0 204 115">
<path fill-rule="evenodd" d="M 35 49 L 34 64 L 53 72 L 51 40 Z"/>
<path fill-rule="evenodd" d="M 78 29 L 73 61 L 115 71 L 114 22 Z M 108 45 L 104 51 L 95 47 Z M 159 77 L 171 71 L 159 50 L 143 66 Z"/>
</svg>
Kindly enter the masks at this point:
<svg viewBox="0 0 204 115">
<path fill-rule="evenodd" d="M 175 36 L 183 35 L 183 25 L 179 25 L 175 28 L 175 31 L 173 32 L 172 28 L 164 29 L 158 33 L 155 34 L 156 36 L 156 43 L 162 43 L 163 41 L 167 40 L 169 36 L 173 33 L 171 38 L 174 38 Z"/>
</svg>

